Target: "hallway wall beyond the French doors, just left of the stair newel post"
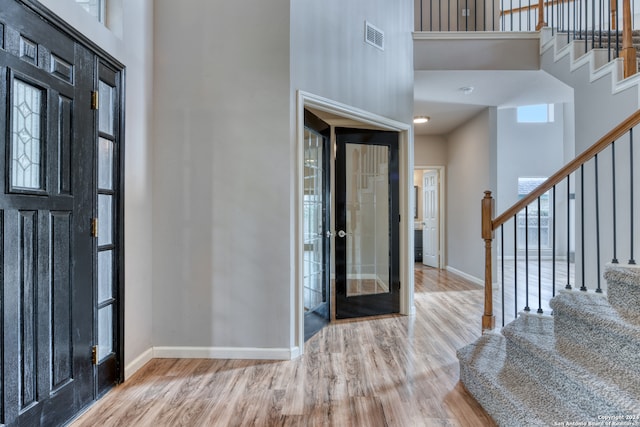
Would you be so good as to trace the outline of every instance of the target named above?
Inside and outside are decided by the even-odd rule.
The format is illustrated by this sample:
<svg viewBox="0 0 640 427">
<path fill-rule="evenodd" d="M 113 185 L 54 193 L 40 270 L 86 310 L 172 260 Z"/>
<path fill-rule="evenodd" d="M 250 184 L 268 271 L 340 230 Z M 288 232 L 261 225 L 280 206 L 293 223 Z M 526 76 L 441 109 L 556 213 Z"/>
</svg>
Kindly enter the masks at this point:
<svg viewBox="0 0 640 427">
<path fill-rule="evenodd" d="M 497 112 L 483 110 L 448 135 L 447 266 L 484 280 L 480 201 L 496 188 Z"/>
</svg>

